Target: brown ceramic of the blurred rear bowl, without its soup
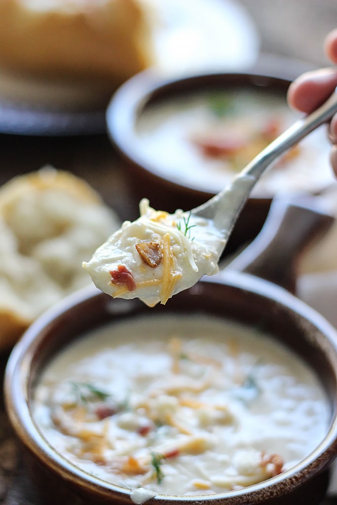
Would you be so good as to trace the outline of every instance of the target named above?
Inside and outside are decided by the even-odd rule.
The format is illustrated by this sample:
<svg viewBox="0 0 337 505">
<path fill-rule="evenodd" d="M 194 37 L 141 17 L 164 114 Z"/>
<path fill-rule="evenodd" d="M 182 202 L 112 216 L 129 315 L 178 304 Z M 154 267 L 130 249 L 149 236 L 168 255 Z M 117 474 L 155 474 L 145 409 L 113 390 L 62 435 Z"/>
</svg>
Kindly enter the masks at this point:
<svg viewBox="0 0 337 505">
<path fill-rule="evenodd" d="M 217 73 L 167 80 L 148 70 L 123 84 L 108 107 L 107 127 L 112 142 L 125 162 L 126 174 L 136 201 L 145 196 L 154 208 L 174 212 L 177 208 L 188 210 L 197 207 L 214 195 L 214 191 L 207 188 L 207 183 L 205 189 L 201 189 L 200 183 L 195 183 L 192 170 L 184 182 L 179 181 L 176 170 L 170 171 L 168 166 L 161 170 L 165 150 L 156 161 L 149 160 L 137 132 L 139 118 L 144 112 L 153 107 L 161 107 L 171 99 L 183 100 L 193 93 L 210 90 L 258 91 L 262 102 L 266 95 L 273 93 L 284 101 L 286 107 L 286 92 L 291 80 L 280 77 L 281 73 L 278 76 L 254 72 Z M 284 75 L 288 74 L 284 72 Z M 219 187 L 218 191 L 221 189 Z M 230 237 L 227 252 L 236 250 L 257 235 L 273 196 L 261 193 L 248 199 Z"/>
</svg>

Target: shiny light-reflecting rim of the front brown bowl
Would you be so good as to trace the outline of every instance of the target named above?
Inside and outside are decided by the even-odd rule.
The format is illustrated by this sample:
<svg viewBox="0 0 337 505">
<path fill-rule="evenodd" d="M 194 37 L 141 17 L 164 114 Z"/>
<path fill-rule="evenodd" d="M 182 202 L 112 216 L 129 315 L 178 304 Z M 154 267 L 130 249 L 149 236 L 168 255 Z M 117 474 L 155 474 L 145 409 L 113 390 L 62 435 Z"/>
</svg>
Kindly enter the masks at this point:
<svg viewBox="0 0 337 505">
<path fill-rule="evenodd" d="M 216 277 L 216 276 L 215 276 Z M 337 383 L 337 329 L 335 329 L 323 316 L 302 300 L 286 291 L 284 288 L 255 277 L 247 273 L 228 271 L 224 276 L 212 280 L 202 280 L 203 284 L 228 285 L 253 295 L 272 298 L 278 305 L 290 308 L 297 315 L 309 320 L 318 331 L 321 331 L 334 349 L 335 354 L 335 381 Z M 198 285 L 197 285 L 198 286 Z M 191 288 L 192 289 L 192 288 Z M 198 288 L 197 288 L 198 289 Z M 34 357 L 40 341 L 45 338 L 50 325 L 60 316 L 67 314 L 74 306 L 83 304 L 92 298 L 106 297 L 97 288 L 89 286 L 73 293 L 42 314 L 24 333 L 22 338 L 14 346 L 5 372 L 5 405 L 16 434 L 28 450 L 50 470 L 57 472 L 66 479 L 72 479 L 75 485 L 83 490 L 99 492 L 101 495 L 111 498 L 129 497 L 131 490 L 122 486 L 107 483 L 94 477 L 84 470 L 76 467 L 63 457 L 44 438 L 31 414 L 28 398 L 28 380 L 31 361 Z M 128 300 L 132 301 L 132 300 Z M 132 309 L 131 309 L 132 310 Z M 174 310 L 174 309 L 173 309 Z M 308 479 L 326 469 L 337 454 L 337 399 L 331 412 L 331 422 L 324 438 L 319 445 L 297 465 L 284 471 L 282 474 L 272 477 L 260 483 L 243 489 L 214 493 L 210 495 L 170 495 L 156 494 L 156 502 L 162 501 L 174 504 L 205 501 L 211 504 L 224 501 L 227 505 L 237 505 L 240 497 L 249 497 L 251 504 L 261 502 L 261 491 L 268 493 L 268 498 L 282 495 L 284 486 L 290 485 L 296 489 Z M 151 499 L 148 500 L 151 502 Z"/>
</svg>

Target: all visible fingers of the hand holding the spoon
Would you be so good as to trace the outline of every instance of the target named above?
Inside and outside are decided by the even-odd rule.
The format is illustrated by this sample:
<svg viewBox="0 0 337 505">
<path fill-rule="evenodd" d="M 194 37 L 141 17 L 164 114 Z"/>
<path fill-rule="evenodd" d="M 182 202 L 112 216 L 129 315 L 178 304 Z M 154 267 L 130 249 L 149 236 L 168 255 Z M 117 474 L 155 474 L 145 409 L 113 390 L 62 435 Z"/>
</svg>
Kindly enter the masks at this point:
<svg viewBox="0 0 337 505">
<path fill-rule="evenodd" d="M 337 64 L 337 28 L 331 31 L 324 42 L 327 57 Z M 290 107 L 310 113 L 322 105 L 337 86 L 337 68 L 322 68 L 306 72 L 289 86 L 287 100 Z M 331 165 L 337 175 L 337 114 L 329 125 L 332 142 Z"/>
</svg>

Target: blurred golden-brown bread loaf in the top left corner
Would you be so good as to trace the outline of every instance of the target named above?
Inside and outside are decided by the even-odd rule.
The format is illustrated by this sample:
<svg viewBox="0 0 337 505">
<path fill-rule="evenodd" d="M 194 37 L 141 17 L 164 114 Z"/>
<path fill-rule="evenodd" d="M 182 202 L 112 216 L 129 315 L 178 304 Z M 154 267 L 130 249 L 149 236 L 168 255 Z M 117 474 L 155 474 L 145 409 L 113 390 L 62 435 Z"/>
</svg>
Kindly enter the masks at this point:
<svg viewBox="0 0 337 505">
<path fill-rule="evenodd" d="M 140 0 L 1 0 L 0 67 L 118 85 L 152 63 Z"/>
</svg>

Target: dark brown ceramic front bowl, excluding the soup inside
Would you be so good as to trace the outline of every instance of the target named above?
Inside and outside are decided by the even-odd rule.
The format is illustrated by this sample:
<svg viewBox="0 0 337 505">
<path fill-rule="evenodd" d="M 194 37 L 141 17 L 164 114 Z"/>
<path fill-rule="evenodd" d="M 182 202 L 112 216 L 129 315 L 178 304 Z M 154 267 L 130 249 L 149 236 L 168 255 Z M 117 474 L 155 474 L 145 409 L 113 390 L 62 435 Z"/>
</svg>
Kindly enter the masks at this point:
<svg viewBox="0 0 337 505">
<path fill-rule="evenodd" d="M 327 224 L 321 218 L 318 222 L 315 218 L 312 223 L 310 216 L 310 212 L 309 220 L 306 212 L 299 216 L 300 229 L 305 229 L 305 233 L 297 233 L 301 235 L 302 242 L 312 235 L 317 225 Z M 294 215 L 291 213 L 286 219 L 294 220 Z M 280 222 L 284 222 L 283 217 Z M 268 239 L 268 230 L 264 235 L 266 247 L 262 249 L 273 250 L 270 245 L 274 241 Z M 274 245 L 277 246 L 277 243 Z M 251 247 L 254 249 L 254 244 Z M 274 262 L 279 263 L 280 258 L 273 255 Z M 260 255 L 258 262 L 260 271 L 262 257 Z M 270 264 L 270 258 L 265 257 L 264 261 Z M 244 263 L 247 267 L 247 261 Z M 31 402 L 39 373 L 66 344 L 108 322 L 113 324 L 145 314 L 150 317 L 153 314 L 206 314 L 248 326 L 263 323 L 266 332 L 295 351 L 314 370 L 326 391 L 330 407 L 330 423 L 323 440 L 291 470 L 245 489 L 206 496 L 157 495 L 148 503 L 318 504 L 327 487 L 328 468 L 337 453 L 337 333 L 323 317 L 284 288 L 229 267 L 218 278 L 201 281 L 175 295 L 166 306 L 159 305 L 153 309 L 139 300 L 112 299 L 94 288 L 85 289 L 52 308 L 28 329 L 9 359 L 5 393 L 10 420 L 25 448 L 28 467 L 42 502 L 64 505 L 131 503 L 128 489 L 86 474 L 51 447 L 32 418 Z"/>
</svg>

